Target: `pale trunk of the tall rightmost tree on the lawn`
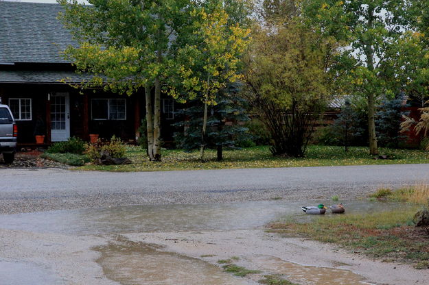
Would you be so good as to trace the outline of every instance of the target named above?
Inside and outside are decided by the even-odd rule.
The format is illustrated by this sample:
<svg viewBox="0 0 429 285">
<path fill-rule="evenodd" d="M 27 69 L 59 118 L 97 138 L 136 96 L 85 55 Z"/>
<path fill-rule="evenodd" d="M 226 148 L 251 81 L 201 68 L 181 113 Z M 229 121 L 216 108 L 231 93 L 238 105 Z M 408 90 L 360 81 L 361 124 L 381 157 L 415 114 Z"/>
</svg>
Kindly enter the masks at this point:
<svg viewBox="0 0 429 285">
<path fill-rule="evenodd" d="M 374 23 L 374 7 L 369 5 L 368 7 L 368 25 L 369 28 L 373 28 Z M 374 51 L 372 47 L 373 39 L 367 39 L 367 45 L 365 47 L 365 55 L 367 56 L 367 66 L 369 71 L 374 71 Z M 371 89 L 367 89 L 368 99 L 368 132 L 369 132 L 369 153 L 372 156 L 378 155 L 377 147 L 377 134 L 375 134 L 375 96 Z"/>
</svg>

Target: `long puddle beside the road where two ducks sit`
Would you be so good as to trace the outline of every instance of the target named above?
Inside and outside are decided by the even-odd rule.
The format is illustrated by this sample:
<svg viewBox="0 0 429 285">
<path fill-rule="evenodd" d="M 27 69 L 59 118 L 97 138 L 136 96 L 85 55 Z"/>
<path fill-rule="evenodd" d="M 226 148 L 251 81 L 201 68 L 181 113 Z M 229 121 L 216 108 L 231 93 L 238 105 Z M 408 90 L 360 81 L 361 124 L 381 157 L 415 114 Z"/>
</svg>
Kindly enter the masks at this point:
<svg viewBox="0 0 429 285">
<path fill-rule="evenodd" d="M 408 207 L 389 202 L 343 202 L 347 213 L 375 212 Z M 247 230 L 284 217 L 300 221 L 329 219 L 332 214 L 305 215 L 301 206 L 312 203 L 254 201 L 192 205 L 120 206 L 61 210 L 0 216 L 0 228 L 60 234 L 113 234 L 124 232 L 192 232 Z M 329 205 L 329 201 L 325 201 Z M 382 206 L 380 206 L 382 205 Z"/>
</svg>

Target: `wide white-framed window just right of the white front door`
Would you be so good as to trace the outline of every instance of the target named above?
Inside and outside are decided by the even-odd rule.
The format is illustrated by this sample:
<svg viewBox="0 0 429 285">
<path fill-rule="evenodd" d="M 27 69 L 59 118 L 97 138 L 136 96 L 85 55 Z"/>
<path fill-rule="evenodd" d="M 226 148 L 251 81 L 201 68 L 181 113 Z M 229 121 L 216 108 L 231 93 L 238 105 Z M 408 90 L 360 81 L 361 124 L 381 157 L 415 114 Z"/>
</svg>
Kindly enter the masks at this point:
<svg viewBox="0 0 429 285">
<path fill-rule="evenodd" d="M 126 120 L 126 99 L 91 99 L 91 119 Z"/>
</svg>

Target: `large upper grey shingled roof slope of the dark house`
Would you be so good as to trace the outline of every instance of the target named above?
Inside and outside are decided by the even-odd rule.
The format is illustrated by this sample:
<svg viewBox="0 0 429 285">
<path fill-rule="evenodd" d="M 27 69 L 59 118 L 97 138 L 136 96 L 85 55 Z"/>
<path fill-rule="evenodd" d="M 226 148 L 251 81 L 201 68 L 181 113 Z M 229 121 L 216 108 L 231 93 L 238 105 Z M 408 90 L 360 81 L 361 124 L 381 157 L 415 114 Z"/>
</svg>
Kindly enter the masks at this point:
<svg viewBox="0 0 429 285">
<path fill-rule="evenodd" d="M 61 5 L 0 1 L 0 62 L 69 63 L 60 51 L 77 45 L 56 19 Z"/>
</svg>

